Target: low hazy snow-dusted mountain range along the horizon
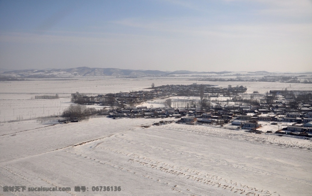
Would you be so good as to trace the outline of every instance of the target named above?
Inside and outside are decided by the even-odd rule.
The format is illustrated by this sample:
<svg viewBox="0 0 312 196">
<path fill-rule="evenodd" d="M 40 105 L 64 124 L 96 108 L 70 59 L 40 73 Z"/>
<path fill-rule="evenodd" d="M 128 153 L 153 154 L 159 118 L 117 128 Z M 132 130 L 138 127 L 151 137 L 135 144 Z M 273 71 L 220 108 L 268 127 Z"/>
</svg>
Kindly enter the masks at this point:
<svg viewBox="0 0 312 196">
<path fill-rule="evenodd" d="M 0 77 L 3 78 L 69 78 L 69 77 L 88 77 L 88 76 L 127 76 L 127 77 L 148 77 L 148 76 L 169 76 L 169 75 L 240 75 L 241 72 L 197 72 L 197 71 L 159 71 L 159 70 L 133 70 L 133 69 L 117 69 L 117 68 L 90 68 L 90 67 L 77 67 L 70 69 L 24 69 L 24 70 L 13 70 L 13 71 L 0 71 Z M 267 71 L 256 71 L 256 72 L 244 72 L 248 74 L 276 74 Z M 302 73 L 302 74 L 311 74 Z"/>
</svg>

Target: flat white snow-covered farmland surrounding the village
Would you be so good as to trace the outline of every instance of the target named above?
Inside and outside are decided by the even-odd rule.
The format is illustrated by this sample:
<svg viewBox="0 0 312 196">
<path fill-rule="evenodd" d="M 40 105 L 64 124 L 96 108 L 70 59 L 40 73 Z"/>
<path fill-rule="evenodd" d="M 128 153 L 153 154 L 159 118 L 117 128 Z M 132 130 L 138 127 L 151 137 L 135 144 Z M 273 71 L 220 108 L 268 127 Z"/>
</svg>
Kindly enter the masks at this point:
<svg viewBox="0 0 312 196">
<path fill-rule="evenodd" d="M 81 93 L 129 92 L 148 88 L 153 82 L 158 86 L 194 81 L 108 78 L 94 82 L 97 84 L 90 79 L 68 84 L 61 80 L 0 83 L 0 195 L 311 194 L 312 142 L 305 138 L 212 126 L 153 125 L 174 118 L 101 117 L 56 125 L 53 119 L 25 120 L 32 110 L 36 116 L 41 111 L 41 116 L 62 112 L 70 104 L 71 91 L 78 88 Z M 246 86 L 251 92 L 290 89 L 284 83 L 231 85 Z M 291 84 L 291 88 L 295 85 L 312 89 L 311 84 Z M 59 93 L 61 98 L 31 99 L 37 93 Z M 16 115 L 23 121 L 8 122 L 16 120 Z M 4 186 L 25 186 L 26 190 L 4 192 Z M 41 186 L 70 187 L 71 191 L 27 191 Z M 88 191 L 76 192 L 75 186 L 85 186 Z M 92 186 L 120 186 L 121 190 L 92 191 Z"/>
</svg>

